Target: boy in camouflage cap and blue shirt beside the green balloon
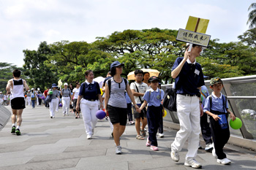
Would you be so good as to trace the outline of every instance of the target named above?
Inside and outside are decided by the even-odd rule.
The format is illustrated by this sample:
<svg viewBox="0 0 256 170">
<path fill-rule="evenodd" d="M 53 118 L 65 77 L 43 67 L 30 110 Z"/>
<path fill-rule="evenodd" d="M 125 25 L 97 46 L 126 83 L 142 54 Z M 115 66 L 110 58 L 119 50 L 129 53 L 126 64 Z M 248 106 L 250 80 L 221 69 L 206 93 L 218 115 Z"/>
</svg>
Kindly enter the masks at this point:
<svg viewBox="0 0 256 170">
<path fill-rule="evenodd" d="M 211 93 L 211 96 L 206 98 L 203 112 L 206 112 L 211 116 L 211 135 L 214 141 L 214 150 L 212 150 L 212 154 L 214 157 L 217 157 L 218 163 L 226 165 L 230 164 L 231 161 L 227 159 L 225 152 L 223 152 L 223 147 L 230 138 L 230 129 L 228 123 L 223 125 L 220 121 L 223 122 L 223 120 L 227 120 L 228 113 L 232 120 L 235 120 L 236 117 L 233 112 L 228 109 L 227 98 L 221 93 L 223 88 L 222 80 L 219 77 L 212 78 L 210 81 L 210 88 L 214 91 Z"/>
</svg>

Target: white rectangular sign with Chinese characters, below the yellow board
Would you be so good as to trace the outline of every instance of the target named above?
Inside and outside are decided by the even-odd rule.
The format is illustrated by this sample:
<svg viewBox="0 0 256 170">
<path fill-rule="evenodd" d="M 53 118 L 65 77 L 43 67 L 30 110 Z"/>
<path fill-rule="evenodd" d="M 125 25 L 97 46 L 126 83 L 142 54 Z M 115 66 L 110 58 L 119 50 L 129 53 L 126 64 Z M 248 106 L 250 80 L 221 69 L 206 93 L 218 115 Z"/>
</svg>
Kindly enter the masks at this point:
<svg viewBox="0 0 256 170">
<path fill-rule="evenodd" d="M 211 36 L 207 34 L 201 34 L 194 31 L 189 31 L 187 29 L 179 29 L 178 35 L 176 37 L 177 40 L 181 42 L 189 42 L 195 45 L 201 45 L 204 47 L 208 47 Z"/>
</svg>

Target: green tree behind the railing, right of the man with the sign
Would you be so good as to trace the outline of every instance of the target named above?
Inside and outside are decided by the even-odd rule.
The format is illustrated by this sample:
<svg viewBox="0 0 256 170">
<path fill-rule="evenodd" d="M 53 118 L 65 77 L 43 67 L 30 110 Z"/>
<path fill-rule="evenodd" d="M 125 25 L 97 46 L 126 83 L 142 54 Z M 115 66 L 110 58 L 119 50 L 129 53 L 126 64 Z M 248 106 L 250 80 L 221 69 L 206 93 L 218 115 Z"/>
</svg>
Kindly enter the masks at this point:
<svg viewBox="0 0 256 170">
<path fill-rule="evenodd" d="M 198 58 L 203 67 L 203 74 L 210 78 L 215 77 L 214 72 L 222 74 L 222 78 L 255 74 L 256 58 L 251 47 L 241 42 L 217 41 L 218 39 L 211 41 Z"/>
</svg>

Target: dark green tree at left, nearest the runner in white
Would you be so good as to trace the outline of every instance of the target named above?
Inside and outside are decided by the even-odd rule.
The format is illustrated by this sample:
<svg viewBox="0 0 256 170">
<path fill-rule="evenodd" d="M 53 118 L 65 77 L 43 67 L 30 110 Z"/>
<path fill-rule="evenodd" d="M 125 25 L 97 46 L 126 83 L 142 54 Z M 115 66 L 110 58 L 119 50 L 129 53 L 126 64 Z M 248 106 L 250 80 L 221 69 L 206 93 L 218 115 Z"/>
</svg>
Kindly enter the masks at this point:
<svg viewBox="0 0 256 170">
<path fill-rule="evenodd" d="M 47 42 L 41 42 L 36 50 L 23 50 L 26 69 L 25 75 L 29 77 L 27 80 L 30 88 L 40 88 L 41 90 L 48 88 L 53 82 L 57 82 L 56 72 L 45 65 L 47 56 L 51 50 Z"/>
</svg>

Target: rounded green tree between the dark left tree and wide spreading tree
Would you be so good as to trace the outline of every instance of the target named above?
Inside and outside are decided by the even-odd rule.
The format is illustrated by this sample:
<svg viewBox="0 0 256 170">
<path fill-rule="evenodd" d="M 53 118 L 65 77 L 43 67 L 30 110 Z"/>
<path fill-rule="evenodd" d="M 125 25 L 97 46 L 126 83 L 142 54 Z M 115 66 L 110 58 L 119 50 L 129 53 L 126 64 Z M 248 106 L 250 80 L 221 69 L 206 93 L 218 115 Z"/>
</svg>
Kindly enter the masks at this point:
<svg viewBox="0 0 256 170">
<path fill-rule="evenodd" d="M 114 59 L 87 42 L 55 42 L 50 49 L 53 53 L 48 55 L 45 64 L 56 72 L 62 82 L 83 81 L 87 69 L 94 70 L 94 77 L 105 77 Z"/>
</svg>

